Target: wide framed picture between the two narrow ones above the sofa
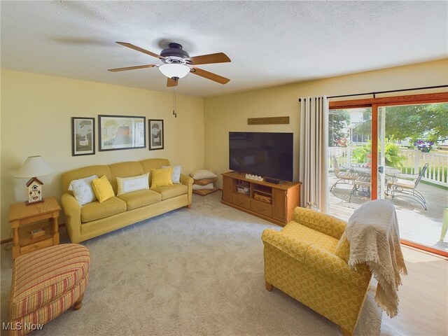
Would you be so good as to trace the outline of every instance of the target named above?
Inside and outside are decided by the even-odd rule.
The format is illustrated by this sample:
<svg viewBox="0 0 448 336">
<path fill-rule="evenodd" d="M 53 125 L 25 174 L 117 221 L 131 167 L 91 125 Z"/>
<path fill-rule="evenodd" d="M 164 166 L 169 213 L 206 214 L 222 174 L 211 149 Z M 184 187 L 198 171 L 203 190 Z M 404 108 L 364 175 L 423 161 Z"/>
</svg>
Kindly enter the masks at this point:
<svg viewBox="0 0 448 336">
<path fill-rule="evenodd" d="M 146 147 L 146 118 L 98 116 L 99 151 Z"/>
</svg>

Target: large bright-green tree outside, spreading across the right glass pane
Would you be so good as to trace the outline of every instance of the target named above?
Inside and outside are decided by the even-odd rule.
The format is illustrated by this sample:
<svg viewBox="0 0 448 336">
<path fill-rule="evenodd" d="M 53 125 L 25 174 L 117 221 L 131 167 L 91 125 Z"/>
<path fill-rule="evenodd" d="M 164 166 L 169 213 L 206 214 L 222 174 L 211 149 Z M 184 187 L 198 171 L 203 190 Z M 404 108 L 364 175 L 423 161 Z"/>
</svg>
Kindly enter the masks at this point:
<svg viewBox="0 0 448 336">
<path fill-rule="evenodd" d="M 365 123 L 357 125 L 358 134 L 370 134 L 372 120 L 366 110 Z M 448 139 L 448 103 L 388 106 L 386 108 L 386 138 L 404 140 L 411 138 L 428 141 Z"/>
</svg>

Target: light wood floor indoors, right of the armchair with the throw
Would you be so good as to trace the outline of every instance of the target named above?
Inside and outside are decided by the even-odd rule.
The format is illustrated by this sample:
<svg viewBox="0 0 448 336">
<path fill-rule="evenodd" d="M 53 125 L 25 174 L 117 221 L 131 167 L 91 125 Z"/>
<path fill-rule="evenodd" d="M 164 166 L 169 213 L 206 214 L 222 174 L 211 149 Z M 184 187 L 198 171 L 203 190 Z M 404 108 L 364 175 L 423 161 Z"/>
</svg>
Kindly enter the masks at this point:
<svg viewBox="0 0 448 336">
<path fill-rule="evenodd" d="M 381 336 L 448 335 L 448 258 L 402 246 L 408 274 L 398 291 L 398 315 L 383 313 Z"/>
</svg>

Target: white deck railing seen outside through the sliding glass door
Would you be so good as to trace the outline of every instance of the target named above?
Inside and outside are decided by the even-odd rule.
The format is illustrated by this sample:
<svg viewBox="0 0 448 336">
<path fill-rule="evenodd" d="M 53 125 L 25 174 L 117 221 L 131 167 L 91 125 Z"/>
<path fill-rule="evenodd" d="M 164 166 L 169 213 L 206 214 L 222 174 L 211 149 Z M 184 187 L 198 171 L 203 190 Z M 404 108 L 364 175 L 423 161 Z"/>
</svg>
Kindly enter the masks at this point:
<svg viewBox="0 0 448 336">
<path fill-rule="evenodd" d="M 334 155 L 339 167 L 344 163 L 351 162 L 351 153 L 354 147 L 330 147 L 328 155 L 330 158 Z M 448 187 L 448 155 L 435 153 L 422 153 L 418 150 L 400 149 L 400 155 L 405 157 L 402 161 L 401 171 L 403 174 L 418 175 L 420 169 L 426 163 L 429 163 L 429 169 L 422 180 L 437 184 L 438 186 Z M 333 171 L 332 160 L 328 160 L 330 169 Z"/>
</svg>

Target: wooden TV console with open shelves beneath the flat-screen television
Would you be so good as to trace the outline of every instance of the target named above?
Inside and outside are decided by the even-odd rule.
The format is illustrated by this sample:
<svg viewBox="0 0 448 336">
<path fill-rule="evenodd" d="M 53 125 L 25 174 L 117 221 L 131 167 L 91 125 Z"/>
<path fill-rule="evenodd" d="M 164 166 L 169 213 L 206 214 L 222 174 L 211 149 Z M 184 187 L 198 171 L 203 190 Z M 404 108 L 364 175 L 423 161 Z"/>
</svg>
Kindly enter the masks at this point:
<svg viewBox="0 0 448 336">
<path fill-rule="evenodd" d="M 279 184 L 246 179 L 246 174 L 228 172 L 223 176 L 221 203 L 272 223 L 285 226 L 300 206 L 300 182 Z"/>
</svg>

